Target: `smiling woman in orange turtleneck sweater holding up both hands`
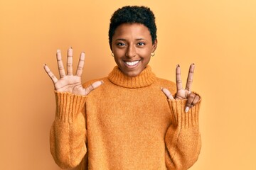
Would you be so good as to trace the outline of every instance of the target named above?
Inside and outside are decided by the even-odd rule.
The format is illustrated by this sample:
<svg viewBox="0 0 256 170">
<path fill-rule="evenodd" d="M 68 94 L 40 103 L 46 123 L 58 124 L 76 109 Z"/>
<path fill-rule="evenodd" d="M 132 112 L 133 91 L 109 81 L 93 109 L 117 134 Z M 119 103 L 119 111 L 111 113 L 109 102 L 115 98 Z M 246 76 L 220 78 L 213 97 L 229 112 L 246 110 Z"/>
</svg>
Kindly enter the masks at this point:
<svg viewBox="0 0 256 170">
<path fill-rule="evenodd" d="M 194 64 L 186 89 L 179 65 L 176 84 L 151 72 L 148 63 L 157 39 L 149 8 L 124 6 L 110 22 L 110 48 L 117 66 L 108 77 L 82 85 L 85 53 L 73 75 L 71 47 L 67 75 L 60 50 L 60 79 L 44 67 L 55 86 L 57 108 L 50 130 L 55 162 L 63 169 L 188 169 L 201 149 L 201 98 L 191 92 Z"/>
</svg>

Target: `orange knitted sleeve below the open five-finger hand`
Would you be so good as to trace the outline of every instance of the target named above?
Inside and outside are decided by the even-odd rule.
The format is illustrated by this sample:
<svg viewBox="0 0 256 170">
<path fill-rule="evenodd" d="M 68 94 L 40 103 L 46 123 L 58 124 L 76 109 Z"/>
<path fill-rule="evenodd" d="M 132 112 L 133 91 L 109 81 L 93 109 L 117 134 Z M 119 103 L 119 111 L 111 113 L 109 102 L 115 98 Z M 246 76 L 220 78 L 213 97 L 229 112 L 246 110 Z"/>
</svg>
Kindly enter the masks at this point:
<svg viewBox="0 0 256 170">
<path fill-rule="evenodd" d="M 87 152 L 85 145 L 86 96 L 55 91 L 56 113 L 50 129 L 50 152 L 62 169 L 78 166 Z"/>
</svg>

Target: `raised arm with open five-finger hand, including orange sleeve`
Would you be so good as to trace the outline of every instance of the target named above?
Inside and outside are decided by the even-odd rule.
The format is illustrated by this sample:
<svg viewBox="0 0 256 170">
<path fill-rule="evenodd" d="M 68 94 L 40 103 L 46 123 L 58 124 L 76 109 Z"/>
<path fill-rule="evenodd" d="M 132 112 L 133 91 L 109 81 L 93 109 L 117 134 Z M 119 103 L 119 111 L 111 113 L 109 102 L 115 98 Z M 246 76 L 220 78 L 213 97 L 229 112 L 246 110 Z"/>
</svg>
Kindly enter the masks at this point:
<svg viewBox="0 0 256 170">
<path fill-rule="evenodd" d="M 96 81 L 87 88 L 81 85 L 85 53 L 82 52 L 78 69 L 73 75 L 73 49 L 68 49 L 67 75 L 60 50 L 56 54 L 60 79 L 45 64 L 44 69 L 55 87 L 56 113 L 50 129 L 50 152 L 61 168 L 75 167 L 85 157 L 87 148 L 85 125 L 85 100 L 87 95 L 103 82 Z"/>
</svg>

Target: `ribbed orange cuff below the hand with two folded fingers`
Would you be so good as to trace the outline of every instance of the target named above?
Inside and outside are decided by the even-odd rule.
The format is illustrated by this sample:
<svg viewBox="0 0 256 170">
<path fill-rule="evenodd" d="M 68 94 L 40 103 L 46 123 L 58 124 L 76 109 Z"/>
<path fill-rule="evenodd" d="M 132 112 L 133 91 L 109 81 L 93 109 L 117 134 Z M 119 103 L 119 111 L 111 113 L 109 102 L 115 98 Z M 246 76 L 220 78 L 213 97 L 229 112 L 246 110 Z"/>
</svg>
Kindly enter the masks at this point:
<svg viewBox="0 0 256 170">
<path fill-rule="evenodd" d="M 169 100 L 169 106 L 171 108 L 171 116 L 173 124 L 180 128 L 192 128 L 198 125 L 199 120 L 199 108 L 201 100 L 189 108 L 188 113 L 185 112 L 187 100 Z"/>
</svg>

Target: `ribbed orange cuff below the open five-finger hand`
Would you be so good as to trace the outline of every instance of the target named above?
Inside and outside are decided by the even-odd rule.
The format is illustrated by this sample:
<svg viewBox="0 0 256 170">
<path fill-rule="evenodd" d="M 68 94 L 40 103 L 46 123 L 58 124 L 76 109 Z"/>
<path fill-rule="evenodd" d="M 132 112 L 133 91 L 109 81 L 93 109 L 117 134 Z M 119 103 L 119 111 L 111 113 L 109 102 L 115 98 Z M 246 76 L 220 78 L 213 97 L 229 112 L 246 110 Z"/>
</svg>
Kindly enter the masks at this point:
<svg viewBox="0 0 256 170">
<path fill-rule="evenodd" d="M 87 96 L 55 91 L 56 115 L 63 122 L 72 123 L 79 111 L 85 106 Z"/>
</svg>

